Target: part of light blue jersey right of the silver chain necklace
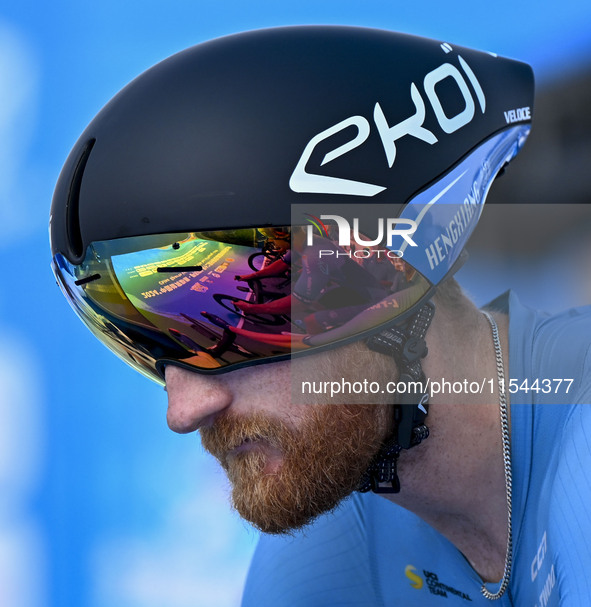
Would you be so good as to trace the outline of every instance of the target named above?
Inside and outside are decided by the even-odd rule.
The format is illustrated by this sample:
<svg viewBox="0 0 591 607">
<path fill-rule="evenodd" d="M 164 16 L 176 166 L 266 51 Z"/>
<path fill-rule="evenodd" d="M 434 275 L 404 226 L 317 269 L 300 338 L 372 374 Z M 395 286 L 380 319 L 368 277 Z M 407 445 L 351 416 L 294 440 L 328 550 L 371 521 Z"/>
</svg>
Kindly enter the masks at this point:
<svg viewBox="0 0 591 607">
<path fill-rule="evenodd" d="M 591 605 L 591 308 L 509 310 L 513 604 Z"/>
</svg>

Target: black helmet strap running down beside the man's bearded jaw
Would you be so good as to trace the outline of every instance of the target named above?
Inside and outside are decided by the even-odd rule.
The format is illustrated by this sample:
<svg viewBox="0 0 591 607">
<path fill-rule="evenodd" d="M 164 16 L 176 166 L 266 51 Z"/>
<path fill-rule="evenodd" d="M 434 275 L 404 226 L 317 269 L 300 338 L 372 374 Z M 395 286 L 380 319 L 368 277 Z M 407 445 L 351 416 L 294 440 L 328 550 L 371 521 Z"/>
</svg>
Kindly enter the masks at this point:
<svg viewBox="0 0 591 607">
<path fill-rule="evenodd" d="M 394 429 L 363 474 L 358 491 L 365 493 L 399 493 L 398 457 L 402 449 L 410 449 L 429 436 L 425 425 L 429 392 L 421 359 L 427 356 L 425 334 L 431 324 L 435 306 L 425 303 L 420 310 L 400 326 L 382 329 L 367 340 L 370 350 L 391 356 L 396 361 L 400 377 L 394 404 Z M 380 483 L 390 486 L 380 487 Z"/>
</svg>

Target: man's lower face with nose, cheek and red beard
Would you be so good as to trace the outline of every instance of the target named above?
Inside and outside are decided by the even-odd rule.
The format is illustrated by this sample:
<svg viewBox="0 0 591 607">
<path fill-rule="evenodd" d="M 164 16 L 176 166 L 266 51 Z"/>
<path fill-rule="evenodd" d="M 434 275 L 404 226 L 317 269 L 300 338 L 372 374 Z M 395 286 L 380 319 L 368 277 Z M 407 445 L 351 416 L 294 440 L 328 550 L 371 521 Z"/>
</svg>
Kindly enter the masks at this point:
<svg viewBox="0 0 591 607">
<path fill-rule="evenodd" d="M 300 528 L 334 508 L 358 487 L 390 432 L 387 405 L 291 405 L 289 362 L 207 379 L 198 386 L 192 374 L 167 368 L 169 426 L 199 430 L 228 474 L 234 507 L 267 533 Z"/>
</svg>

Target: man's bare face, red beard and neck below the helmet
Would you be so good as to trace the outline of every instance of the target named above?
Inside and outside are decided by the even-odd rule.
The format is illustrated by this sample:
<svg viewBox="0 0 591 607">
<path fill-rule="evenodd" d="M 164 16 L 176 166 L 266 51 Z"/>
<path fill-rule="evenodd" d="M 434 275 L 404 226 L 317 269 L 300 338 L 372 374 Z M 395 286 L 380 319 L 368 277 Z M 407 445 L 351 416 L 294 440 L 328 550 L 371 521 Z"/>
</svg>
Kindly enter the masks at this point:
<svg viewBox="0 0 591 607">
<path fill-rule="evenodd" d="M 423 363 L 425 373 L 431 381 L 462 383 L 494 377 L 489 321 L 454 281 L 442 286 L 440 295 L 427 334 L 431 354 Z M 506 344 L 507 318 L 499 315 L 497 322 L 501 343 Z M 462 338 L 454 339 L 454 334 Z M 453 357 L 438 355 L 444 343 L 450 344 Z M 219 377 L 170 365 L 168 424 L 181 433 L 199 430 L 203 446 L 228 474 L 241 516 L 267 533 L 290 532 L 332 510 L 357 489 L 392 432 L 394 412 L 388 404 L 339 404 L 334 398 L 332 404 L 291 402 L 294 375 L 350 377 L 354 364 L 370 380 L 398 375 L 391 358 L 364 344 Z M 420 512 L 491 581 L 503 575 L 507 547 L 498 402 L 498 392 L 464 392 L 453 403 L 449 396 L 434 397 L 429 440 L 401 454 L 402 490 L 385 494 Z M 488 489 L 474 494 L 470 489 L 481 479 L 487 479 Z"/>
</svg>

